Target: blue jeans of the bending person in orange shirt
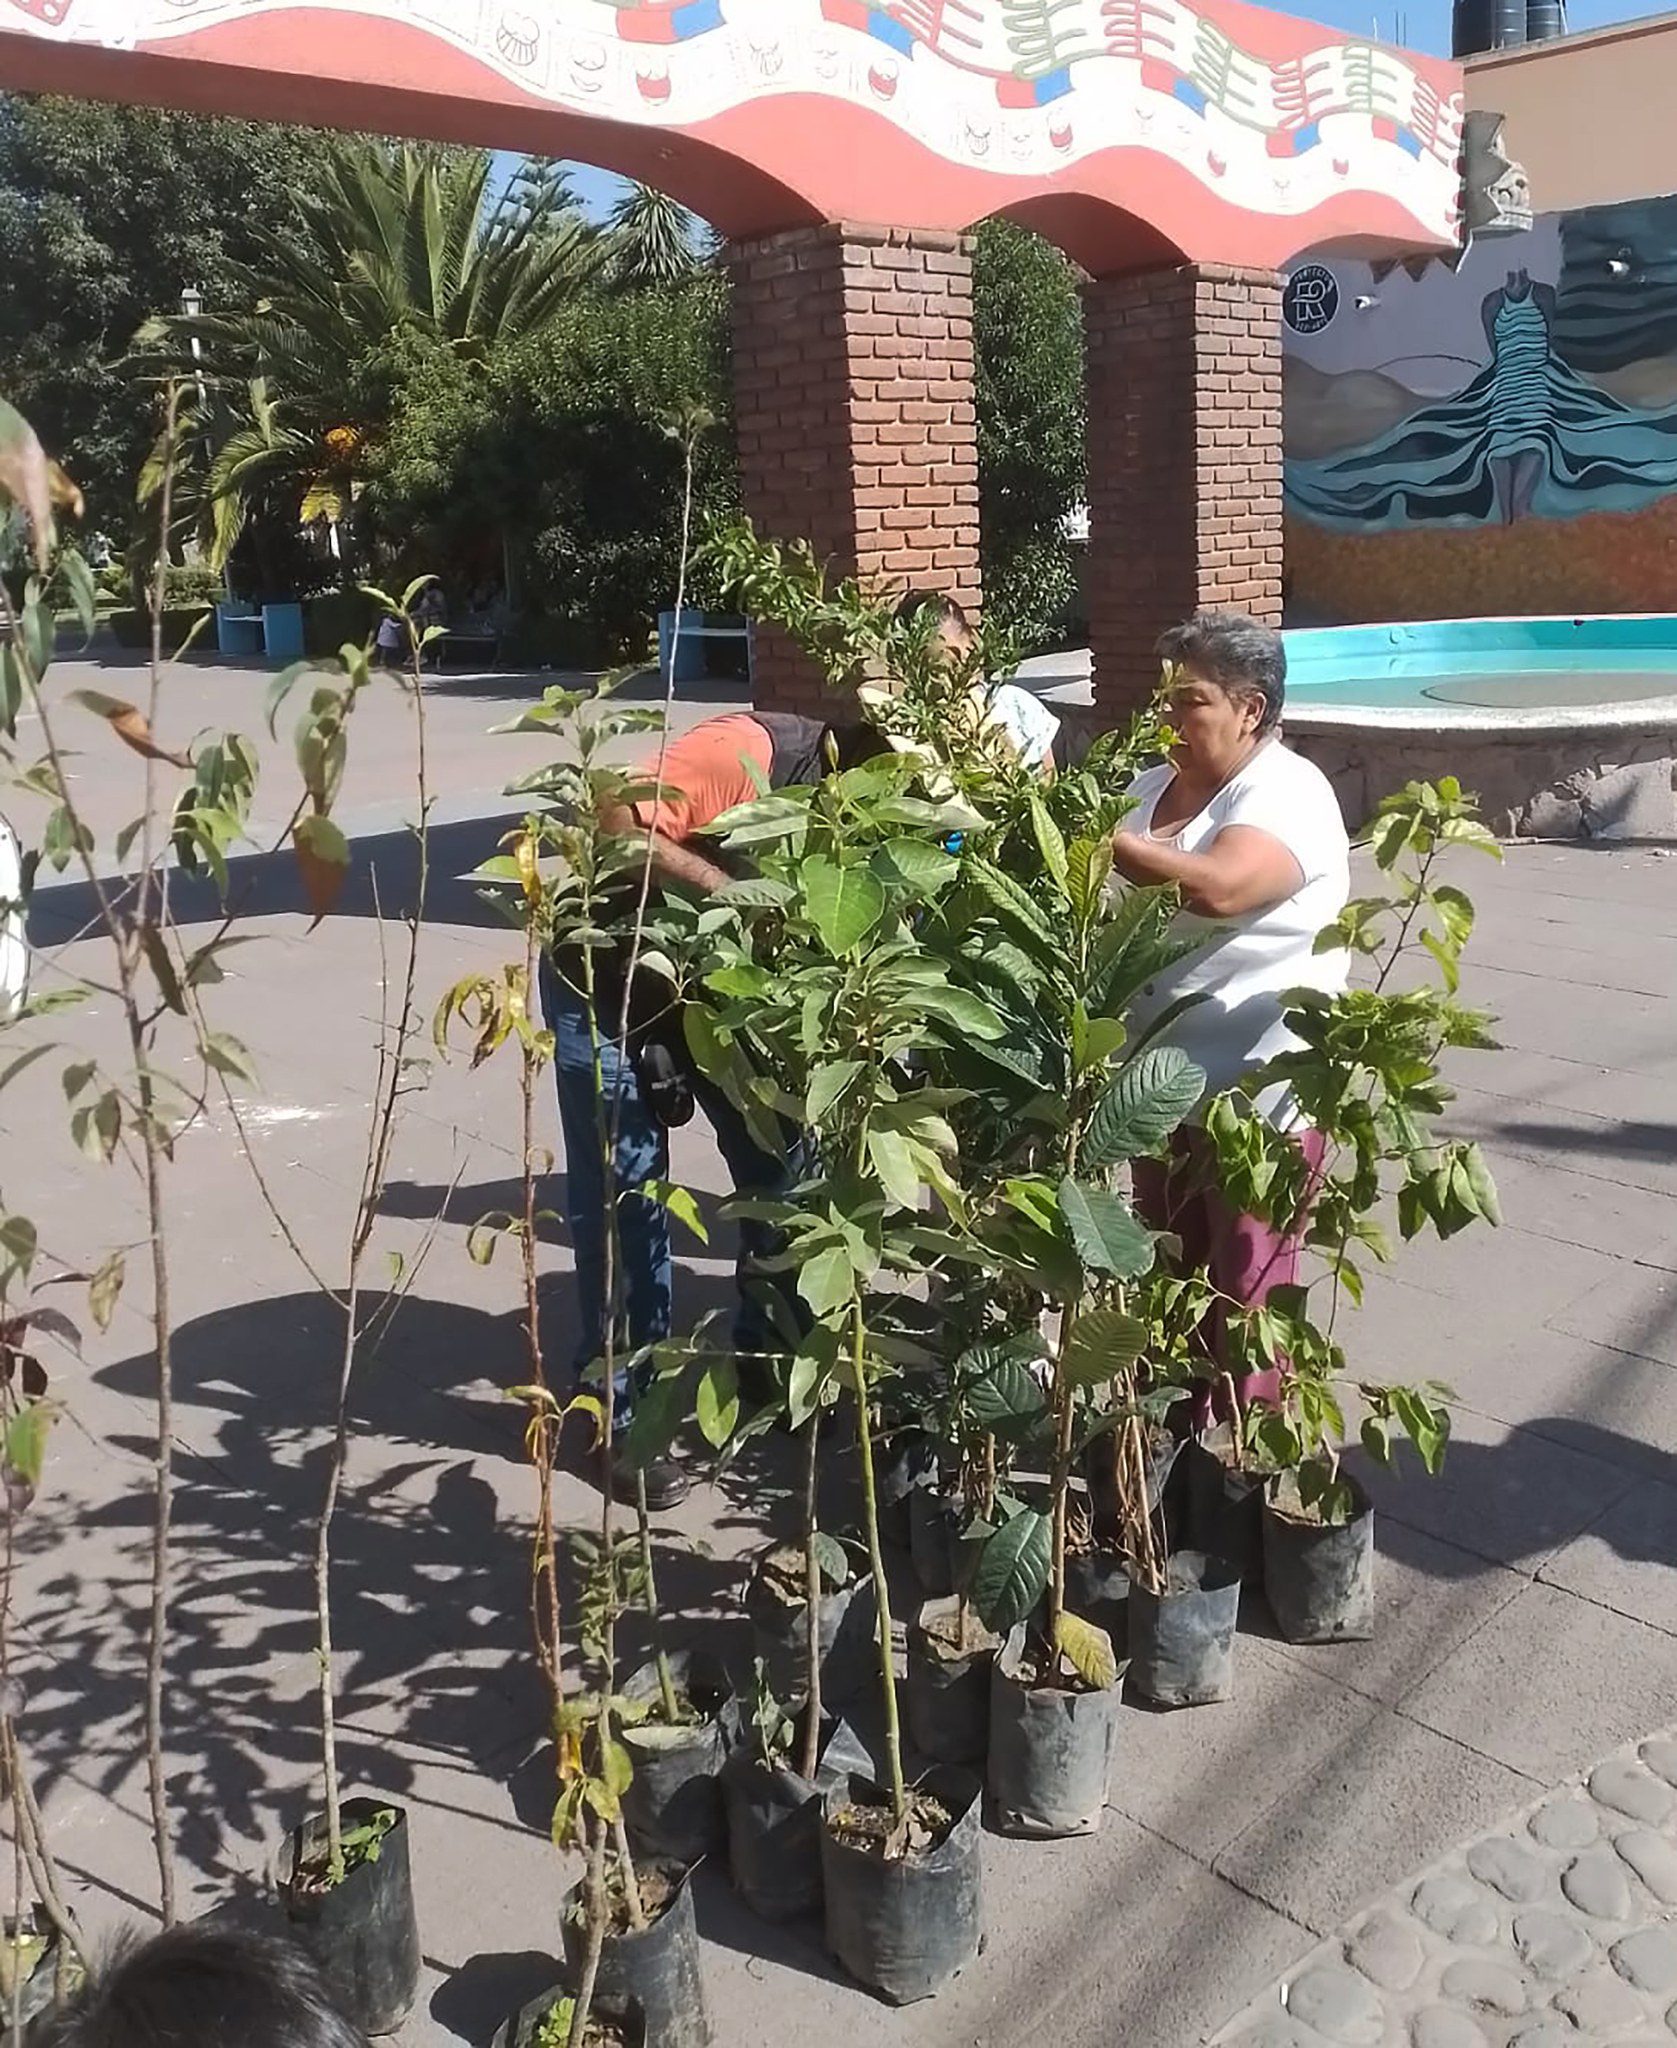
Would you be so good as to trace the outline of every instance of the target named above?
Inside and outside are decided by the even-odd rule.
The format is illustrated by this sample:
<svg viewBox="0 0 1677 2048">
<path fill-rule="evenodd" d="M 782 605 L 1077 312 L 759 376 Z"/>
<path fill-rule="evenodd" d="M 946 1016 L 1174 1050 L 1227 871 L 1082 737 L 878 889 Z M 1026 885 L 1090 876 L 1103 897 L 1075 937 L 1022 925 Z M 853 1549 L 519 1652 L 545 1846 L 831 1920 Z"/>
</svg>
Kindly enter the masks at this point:
<svg viewBox="0 0 1677 2048">
<path fill-rule="evenodd" d="M 559 1090 L 559 1128 L 565 1139 L 565 1210 L 571 1225 L 571 1249 L 577 1270 L 577 1307 L 582 1331 L 575 1370 L 586 1372 L 606 1348 L 606 1174 L 600 1128 L 596 1122 L 600 1096 L 594 1083 L 594 1038 L 588 1006 L 543 961 L 541 999 L 553 1028 L 553 1073 Z M 618 1120 L 616 1141 L 616 1229 L 618 1229 L 618 1298 L 625 1329 L 618 1341 L 629 1350 L 657 1343 L 672 1327 L 670 1284 L 670 1217 L 657 1202 L 647 1202 L 633 1190 L 647 1180 L 670 1178 L 670 1133 L 651 1114 L 635 1063 L 618 1057 L 616 1006 L 600 1010 L 600 1087 L 606 1098 L 606 1130 Z M 733 1176 L 737 1194 L 780 1196 L 797 1186 L 805 1171 L 805 1147 L 788 1133 L 786 1157 L 776 1159 L 758 1147 L 745 1128 L 745 1118 L 702 1077 L 694 1077 L 698 1106 L 717 1133 L 717 1149 Z M 735 1354 L 776 1354 L 786 1350 L 758 1288 L 776 1286 L 792 1313 L 801 1313 L 797 1296 L 780 1286 L 780 1274 L 764 1274 L 762 1260 L 780 1249 L 780 1235 L 766 1223 L 739 1223 L 739 1257 L 735 1278 L 739 1309 L 733 1319 Z M 627 1380 L 616 1389 L 622 1407 Z"/>
</svg>

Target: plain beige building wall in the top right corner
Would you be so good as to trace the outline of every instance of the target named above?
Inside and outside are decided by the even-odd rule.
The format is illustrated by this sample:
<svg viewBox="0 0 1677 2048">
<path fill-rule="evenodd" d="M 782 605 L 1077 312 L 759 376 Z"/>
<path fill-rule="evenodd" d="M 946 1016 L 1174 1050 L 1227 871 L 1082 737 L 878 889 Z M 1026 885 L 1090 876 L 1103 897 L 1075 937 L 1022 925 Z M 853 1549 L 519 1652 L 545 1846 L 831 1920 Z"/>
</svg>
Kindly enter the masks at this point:
<svg viewBox="0 0 1677 2048">
<path fill-rule="evenodd" d="M 1466 59 L 1538 213 L 1677 193 L 1677 14 Z"/>
</svg>

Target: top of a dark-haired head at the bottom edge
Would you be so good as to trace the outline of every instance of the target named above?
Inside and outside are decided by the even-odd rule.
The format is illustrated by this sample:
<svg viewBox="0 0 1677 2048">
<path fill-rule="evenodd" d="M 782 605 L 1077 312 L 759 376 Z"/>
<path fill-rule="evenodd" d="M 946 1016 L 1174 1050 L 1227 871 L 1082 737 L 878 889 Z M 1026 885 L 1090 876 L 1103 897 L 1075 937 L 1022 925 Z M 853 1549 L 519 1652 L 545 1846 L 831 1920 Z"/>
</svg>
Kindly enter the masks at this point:
<svg viewBox="0 0 1677 2048">
<path fill-rule="evenodd" d="M 31 2048 L 367 2048 L 281 1933 L 172 1927 L 117 1948 Z"/>
</svg>

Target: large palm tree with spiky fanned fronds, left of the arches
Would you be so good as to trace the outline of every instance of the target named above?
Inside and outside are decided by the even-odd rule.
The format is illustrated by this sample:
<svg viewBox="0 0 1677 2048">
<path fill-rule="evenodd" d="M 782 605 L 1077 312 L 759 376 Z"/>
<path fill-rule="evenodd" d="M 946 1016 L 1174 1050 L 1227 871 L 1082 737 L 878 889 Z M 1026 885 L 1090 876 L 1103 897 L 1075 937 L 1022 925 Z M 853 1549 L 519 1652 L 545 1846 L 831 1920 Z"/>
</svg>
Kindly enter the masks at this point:
<svg viewBox="0 0 1677 2048">
<path fill-rule="evenodd" d="M 260 238 L 246 303 L 154 326 L 213 393 L 199 408 L 211 559 L 264 492 L 303 522 L 348 518 L 407 352 L 485 360 L 598 274 L 602 242 L 557 166 L 526 162 L 498 197 L 489 174 L 485 152 L 336 143 L 295 231 Z"/>
</svg>

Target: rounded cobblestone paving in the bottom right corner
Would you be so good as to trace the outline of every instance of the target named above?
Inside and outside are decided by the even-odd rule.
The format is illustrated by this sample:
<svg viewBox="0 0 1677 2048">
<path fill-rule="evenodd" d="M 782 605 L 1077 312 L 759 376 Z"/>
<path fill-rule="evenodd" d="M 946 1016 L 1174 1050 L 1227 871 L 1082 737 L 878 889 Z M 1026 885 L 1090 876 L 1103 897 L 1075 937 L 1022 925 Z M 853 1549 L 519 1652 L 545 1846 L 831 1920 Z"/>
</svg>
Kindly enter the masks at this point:
<svg viewBox="0 0 1677 2048">
<path fill-rule="evenodd" d="M 1677 2038 L 1677 1729 L 1405 1880 L 1212 2048 L 1642 2048 Z"/>
</svg>

